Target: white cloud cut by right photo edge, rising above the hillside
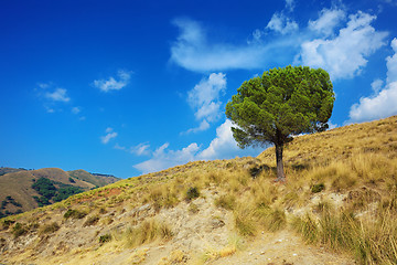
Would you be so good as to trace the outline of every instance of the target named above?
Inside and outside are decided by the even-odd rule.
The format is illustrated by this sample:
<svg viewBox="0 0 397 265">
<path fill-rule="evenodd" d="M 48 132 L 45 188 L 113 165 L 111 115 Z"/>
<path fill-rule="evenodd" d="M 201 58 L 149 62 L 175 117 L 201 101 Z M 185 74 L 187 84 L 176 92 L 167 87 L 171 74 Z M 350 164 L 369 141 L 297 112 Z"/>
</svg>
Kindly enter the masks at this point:
<svg viewBox="0 0 397 265">
<path fill-rule="evenodd" d="M 394 55 L 386 57 L 387 78 L 372 83 L 374 95 L 362 97 L 350 110 L 350 123 L 369 121 L 397 114 L 397 39 L 391 41 Z"/>
</svg>

